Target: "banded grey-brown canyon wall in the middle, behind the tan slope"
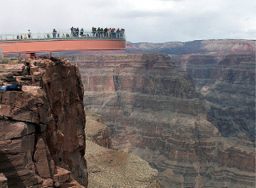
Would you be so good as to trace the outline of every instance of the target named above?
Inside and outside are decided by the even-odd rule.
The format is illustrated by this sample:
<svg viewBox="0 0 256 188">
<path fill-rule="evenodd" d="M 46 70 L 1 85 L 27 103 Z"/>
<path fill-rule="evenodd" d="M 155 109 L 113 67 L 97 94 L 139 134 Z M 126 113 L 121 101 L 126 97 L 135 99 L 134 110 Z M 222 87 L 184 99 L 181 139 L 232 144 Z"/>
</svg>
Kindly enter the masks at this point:
<svg viewBox="0 0 256 188">
<path fill-rule="evenodd" d="M 166 187 L 254 187 L 254 146 L 243 135 L 224 138 L 207 121 L 203 96 L 169 56 L 85 55 L 76 62 L 86 109 L 102 114 L 114 146 L 150 162 Z"/>
</svg>

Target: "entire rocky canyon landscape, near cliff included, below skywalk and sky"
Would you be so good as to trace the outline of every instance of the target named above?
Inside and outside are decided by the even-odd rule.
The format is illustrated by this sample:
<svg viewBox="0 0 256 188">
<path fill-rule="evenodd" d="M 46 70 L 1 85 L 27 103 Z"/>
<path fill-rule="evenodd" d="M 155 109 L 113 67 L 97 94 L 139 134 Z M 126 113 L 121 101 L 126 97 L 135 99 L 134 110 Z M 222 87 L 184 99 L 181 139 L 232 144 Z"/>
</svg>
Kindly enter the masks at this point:
<svg viewBox="0 0 256 188">
<path fill-rule="evenodd" d="M 0 186 L 254 187 L 255 41 L 126 46 L 0 73 Z"/>
</svg>

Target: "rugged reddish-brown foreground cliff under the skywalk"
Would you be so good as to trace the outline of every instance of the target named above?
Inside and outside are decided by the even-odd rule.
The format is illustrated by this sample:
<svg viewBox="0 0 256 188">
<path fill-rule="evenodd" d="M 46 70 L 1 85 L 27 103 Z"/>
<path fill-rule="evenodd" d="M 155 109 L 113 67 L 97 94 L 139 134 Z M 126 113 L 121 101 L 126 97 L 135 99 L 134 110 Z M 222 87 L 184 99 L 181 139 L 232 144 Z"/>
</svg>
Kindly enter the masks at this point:
<svg viewBox="0 0 256 188">
<path fill-rule="evenodd" d="M 0 173 L 10 187 L 87 186 L 78 67 L 54 58 L 23 62 L 22 71 L 1 74 L 23 87 L 0 91 Z"/>
</svg>

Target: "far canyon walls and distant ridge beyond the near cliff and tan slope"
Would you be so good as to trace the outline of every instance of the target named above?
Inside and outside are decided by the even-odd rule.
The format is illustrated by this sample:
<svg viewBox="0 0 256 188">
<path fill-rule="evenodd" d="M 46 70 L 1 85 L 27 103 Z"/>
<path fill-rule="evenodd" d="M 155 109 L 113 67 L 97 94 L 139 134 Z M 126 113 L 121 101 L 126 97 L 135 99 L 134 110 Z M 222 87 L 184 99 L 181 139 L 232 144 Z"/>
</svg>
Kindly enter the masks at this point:
<svg viewBox="0 0 256 188">
<path fill-rule="evenodd" d="M 128 45 L 143 54 L 69 57 L 114 147 L 149 162 L 166 187 L 254 187 L 255 42 L 186 42 L 166 55 L 153 53 L 163 44 Z"/>
</svg>

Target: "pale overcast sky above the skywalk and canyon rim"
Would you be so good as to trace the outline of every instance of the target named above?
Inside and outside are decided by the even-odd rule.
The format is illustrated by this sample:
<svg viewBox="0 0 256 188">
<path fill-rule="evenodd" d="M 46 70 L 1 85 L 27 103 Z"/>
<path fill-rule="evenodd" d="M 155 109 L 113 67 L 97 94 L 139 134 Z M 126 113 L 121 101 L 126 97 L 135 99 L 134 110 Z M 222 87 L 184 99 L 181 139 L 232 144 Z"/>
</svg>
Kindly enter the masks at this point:
<svg viewBox="0 0 256 188">
<path fill-rule="evenodd" d="M 256 0 L 0 0 L 0 34 L 126 29 L 130 42 L 256 39 Z"/>
</svg>

